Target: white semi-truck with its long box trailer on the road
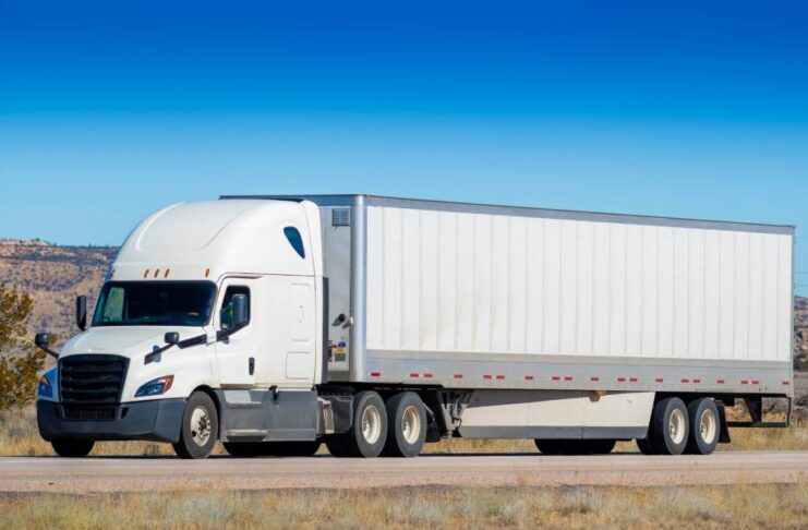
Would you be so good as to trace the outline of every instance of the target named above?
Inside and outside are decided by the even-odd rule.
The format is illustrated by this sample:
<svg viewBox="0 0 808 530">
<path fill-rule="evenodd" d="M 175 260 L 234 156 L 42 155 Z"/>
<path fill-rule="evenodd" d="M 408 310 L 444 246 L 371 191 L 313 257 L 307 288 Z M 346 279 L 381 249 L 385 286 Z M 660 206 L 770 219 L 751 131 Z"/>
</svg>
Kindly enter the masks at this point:
<svg viewBox="0 0 808 530">
<path fill-rule="evenodd" d="M 205 458 L 712 453 L 793 397 L 792 226 L 355 195 L 143 220 L 39 380 L 41 436 Z M 89 320 L 89 322 L 88 322 Z M 725 409 L 744 403 L 748 419 Z M 732 419 L 732 418 L 731 418 Z"/>
</svg>

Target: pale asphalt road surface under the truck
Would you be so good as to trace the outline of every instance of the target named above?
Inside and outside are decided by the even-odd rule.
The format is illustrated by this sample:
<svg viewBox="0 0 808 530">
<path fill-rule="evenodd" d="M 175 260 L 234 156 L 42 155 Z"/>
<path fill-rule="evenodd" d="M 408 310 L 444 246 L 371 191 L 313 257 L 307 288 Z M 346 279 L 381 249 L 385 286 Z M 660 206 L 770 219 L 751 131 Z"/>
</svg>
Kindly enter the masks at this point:
<svg viewBox="0 0 808 530">
<path fill-rule="evenodd" d="M 651 457 L 424 455 L 413 459 L 180 460 L 171 457 L 0 458 L 0 492 L 118 492 L 189 489 L 361 489 L 369 486 L 735 484 L 808 481 L 808 451 Z"/>
</svg>

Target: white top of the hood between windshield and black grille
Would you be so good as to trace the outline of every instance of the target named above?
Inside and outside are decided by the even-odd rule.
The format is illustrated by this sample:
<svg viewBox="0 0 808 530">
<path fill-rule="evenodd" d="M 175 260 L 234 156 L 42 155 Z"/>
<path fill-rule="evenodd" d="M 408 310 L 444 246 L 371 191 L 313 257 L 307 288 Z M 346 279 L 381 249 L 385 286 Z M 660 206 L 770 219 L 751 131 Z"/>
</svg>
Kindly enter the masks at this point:
<svg viewBox="0 0 808 530">
<path fill-rule="evenodd" d="M 155 347 L 165 346 L 168 332 L 177 332 L 180 339 L 204 333 L 201 327 L 176 326 L 99 326 L 91 327 L 68 340 L 61 356 L 80 353 L 112 353 L 128 358 L 150 353 Z"/>
</svg>

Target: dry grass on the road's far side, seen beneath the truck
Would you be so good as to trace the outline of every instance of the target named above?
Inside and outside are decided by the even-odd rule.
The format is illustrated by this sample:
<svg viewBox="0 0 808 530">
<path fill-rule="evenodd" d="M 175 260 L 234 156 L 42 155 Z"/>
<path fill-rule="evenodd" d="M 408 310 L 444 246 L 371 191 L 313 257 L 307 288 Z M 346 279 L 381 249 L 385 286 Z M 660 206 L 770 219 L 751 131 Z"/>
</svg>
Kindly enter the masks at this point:
<svg viewBox="0 0 808 530">
<path fill-rule="evenodd" d="M 808 450 L 808 425 L 788 429 L 733 429 L 732 444 L 719 445 L 719 450 Z M 444 439 L 426 444 L 425 453 L 535 453 L 530 439 Z M 634 442 L 619 442 L 618 453 L 637 453 Z M 321 449 L 326 453 L 325 446 Z M 50 444 L 39 437 L 36 410 L 0 413 L 0 456 L 52 455 Z M 225 454 L 217 446 L 215 454 Z M 116 455 L 173 455 L 169 444 L 150 442 L 100 442 L 93 449 L 94 456 Z"/>
</svg>

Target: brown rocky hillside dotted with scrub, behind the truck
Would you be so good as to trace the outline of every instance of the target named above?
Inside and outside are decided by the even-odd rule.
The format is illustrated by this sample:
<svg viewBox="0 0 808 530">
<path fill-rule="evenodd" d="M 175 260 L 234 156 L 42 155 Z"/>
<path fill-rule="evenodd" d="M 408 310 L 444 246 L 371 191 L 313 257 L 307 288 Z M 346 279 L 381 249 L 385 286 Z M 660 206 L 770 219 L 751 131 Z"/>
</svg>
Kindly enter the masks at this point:
<svg viewBox="0 0 808 530">
<path fill-rule="evenodd" d="M 74 300 L 86 294 L 92 306 L 118 249 L 60 246 L 43 241 L 0 240 L 0 281 L 34 297 L 32 333 L 58 335 L 59 342 L 75 333 Z M 808 370 L 808 298 L 796 298 L 795 364 Z"/>
</svg>

